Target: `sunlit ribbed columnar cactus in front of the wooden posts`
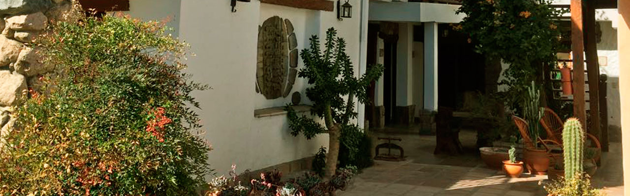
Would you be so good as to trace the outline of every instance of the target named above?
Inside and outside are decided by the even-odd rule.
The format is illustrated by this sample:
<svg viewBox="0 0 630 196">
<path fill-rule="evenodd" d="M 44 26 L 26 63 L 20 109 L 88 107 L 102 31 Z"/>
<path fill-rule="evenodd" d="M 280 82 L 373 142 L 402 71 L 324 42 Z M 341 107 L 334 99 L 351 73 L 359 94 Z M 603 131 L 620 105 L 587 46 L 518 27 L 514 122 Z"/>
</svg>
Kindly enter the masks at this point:
<svg viewBox="0 0 630 196">
<path fill-rule="evenodd" d="M 562 134 L 564 146 L 564 177 L 568 180 L 583 171 L 584 136 L 580 121 L 570 118 L 564 122 Z"/>
</svg>

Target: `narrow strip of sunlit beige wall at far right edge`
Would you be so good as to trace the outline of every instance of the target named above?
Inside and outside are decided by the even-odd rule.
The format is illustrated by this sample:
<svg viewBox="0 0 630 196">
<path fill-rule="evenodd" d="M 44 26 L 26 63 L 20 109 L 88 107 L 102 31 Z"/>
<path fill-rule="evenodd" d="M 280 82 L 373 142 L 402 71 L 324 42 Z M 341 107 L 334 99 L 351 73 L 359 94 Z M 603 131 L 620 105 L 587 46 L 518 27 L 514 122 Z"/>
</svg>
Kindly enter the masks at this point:
<svg viewBox="0 0 630 196">
<path fill-rule="evenodd" d="M 620 54 L 630 54 L 630 0 L 619 0 L 618 8 L 617 47 Z M 624 182 L 630 182 L 630 55 L 619 55 L 619 65 Z M 630 187 L 624 186 L 624 195 L 630 195 Z"/>
</svg>

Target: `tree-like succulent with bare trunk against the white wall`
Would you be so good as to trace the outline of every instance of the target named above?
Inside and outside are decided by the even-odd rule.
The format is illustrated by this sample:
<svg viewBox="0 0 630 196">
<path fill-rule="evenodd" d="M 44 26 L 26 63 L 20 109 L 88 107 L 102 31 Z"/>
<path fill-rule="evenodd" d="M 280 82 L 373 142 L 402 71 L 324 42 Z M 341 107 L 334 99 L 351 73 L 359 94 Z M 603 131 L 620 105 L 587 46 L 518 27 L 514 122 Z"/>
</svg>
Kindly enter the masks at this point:
<svg viewBox="0 0 630 196">
<path fill-rule="evenodd" d="M 307 79 L 311 85 L 306 89 L 306 96 L 313 102 L 311 114 L 322 117 L 325 127 L 311 117 L 297 116 L 291 107 L 286 109 L 294 136 L 302 133 L 311 139 L 317 134 L 328 133 L 330 143 L 324 177 L 329 179 L 335 174 L 341 136 L 360 130 L 356 124 L 350 123 L 350 119 L 357 117 L 354 98 L 365 103 L 367 88 L 372 80 L 381 77 L 383 67 L 374 65 L 357 79 L 350 57 L 345 53 L 346 41 L 337 37 L 334 28 L 326 31 L 323 50 L 319 48 L 317 36 L 312 36 L 310 42 L 310 48 L 302 50 L 304 68 L 298 76 Z"/>
</svg>

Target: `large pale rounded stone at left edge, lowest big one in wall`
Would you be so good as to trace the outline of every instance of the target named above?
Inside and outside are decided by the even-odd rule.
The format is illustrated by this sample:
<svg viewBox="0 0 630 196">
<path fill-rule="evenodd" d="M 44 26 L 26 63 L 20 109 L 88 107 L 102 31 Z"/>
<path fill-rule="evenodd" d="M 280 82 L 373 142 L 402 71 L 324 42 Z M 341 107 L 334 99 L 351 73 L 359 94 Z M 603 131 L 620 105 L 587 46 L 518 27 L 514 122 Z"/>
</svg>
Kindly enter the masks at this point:
<svg viewBox="0 0 630 196">
<path fill-rule="evenodd" d="M 26 94 L 26 78 L 20 74 L 11 74 L 9 70 L 0 70 L 0 105 L 14 106 Z"/>
</svg>

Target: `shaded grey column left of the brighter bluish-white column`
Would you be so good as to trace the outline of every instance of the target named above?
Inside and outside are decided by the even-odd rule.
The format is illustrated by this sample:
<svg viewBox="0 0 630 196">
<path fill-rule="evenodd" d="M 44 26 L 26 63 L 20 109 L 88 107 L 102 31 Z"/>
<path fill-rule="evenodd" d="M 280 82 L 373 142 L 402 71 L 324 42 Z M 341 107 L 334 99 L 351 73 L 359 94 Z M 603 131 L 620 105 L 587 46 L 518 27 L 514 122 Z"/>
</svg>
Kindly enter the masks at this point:
<svg viewBox="0 0 630 196">
<path fill-rule="evenodd" d="M 396 106 L 413 104 L 413 24 L 399 24 L 396 52 Z"/>
</svg>

